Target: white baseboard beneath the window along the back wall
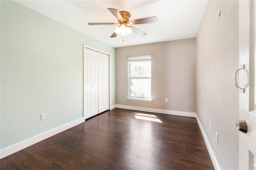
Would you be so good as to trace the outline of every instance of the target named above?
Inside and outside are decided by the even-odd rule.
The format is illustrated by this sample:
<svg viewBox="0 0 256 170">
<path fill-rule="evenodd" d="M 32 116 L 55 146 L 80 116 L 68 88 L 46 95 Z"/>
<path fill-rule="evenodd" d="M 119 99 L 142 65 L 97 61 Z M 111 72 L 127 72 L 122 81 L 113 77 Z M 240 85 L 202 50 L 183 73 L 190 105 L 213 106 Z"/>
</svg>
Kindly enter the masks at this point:
<svg viewBox="0 0 256 170">
<path fill-rule="evenodd" d="M 196 117 L 196 113 L 192 113 L 192 112 L 171 111 L 171 110 L 164 110 L 164 109 L 154 109 L 154 108 L 147 108 L 147 107 L 127 106 L 127 105 L 116 105 L 116 108 L 144 111 L 144 112 L 153 112 L 153 113 L 163 113 L 167 115 Z"/>
</svg>

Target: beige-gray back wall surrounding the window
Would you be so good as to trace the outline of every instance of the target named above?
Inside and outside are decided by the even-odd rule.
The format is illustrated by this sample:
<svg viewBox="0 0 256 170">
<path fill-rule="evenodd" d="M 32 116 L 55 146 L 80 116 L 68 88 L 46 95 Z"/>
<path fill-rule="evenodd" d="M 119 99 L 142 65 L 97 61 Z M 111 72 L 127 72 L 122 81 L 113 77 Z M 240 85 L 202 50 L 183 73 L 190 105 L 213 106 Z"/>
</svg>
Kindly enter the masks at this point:
<svg viewBox="0 0 256 170">
<path fill-rule="evenodd" d="M 151 66 L 152 101 L 132 101 L 128 97 L 128 65 L 126 55 L 154 53 Z M 168 103 L 165 103 L 168 98 Z M 196 111 L 196 40 L 135 45 L 116 48 L 116 104 Z"/>
</svg>

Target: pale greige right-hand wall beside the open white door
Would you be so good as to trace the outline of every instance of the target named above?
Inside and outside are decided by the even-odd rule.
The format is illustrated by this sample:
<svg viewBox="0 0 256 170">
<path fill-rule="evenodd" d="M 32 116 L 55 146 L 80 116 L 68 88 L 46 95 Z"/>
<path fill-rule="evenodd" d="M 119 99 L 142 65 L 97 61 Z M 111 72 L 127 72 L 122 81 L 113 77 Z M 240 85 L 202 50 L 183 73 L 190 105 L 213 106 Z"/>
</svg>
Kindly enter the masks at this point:
<svg viewBox="0 0 256 170">
<path fill-rule="evenodd" d="M 209 1 L 196 45 L 196 113 L 221 169 L 238 169 L 238 1 Z"/>
</svg>

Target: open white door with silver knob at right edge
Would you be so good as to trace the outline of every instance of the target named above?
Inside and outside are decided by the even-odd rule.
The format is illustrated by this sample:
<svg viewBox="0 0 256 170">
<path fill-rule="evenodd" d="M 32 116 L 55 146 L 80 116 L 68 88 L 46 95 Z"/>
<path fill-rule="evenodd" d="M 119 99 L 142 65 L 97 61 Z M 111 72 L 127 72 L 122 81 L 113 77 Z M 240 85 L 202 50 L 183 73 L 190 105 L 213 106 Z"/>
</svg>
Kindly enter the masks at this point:
<svg viewBox="0 0 256 170">
<path fill-rule="evenodd" d="M 239 169 L 256 170 L 256 13 L 255 1 L 239 1 L 239 63 L 244 69 L 239 74 L 238 86 L 244 88 L 239 94 Z M 254 12 L 253 12 L 254 11 Z M 254 29 L 253 29 L 254 28 Z M 244 122 L 245 123 L 244 123 Z M 239 127 L 240 125 L 240 127 Z M 246 132 L 246 133 L 245 133 Z"/>
</svg>

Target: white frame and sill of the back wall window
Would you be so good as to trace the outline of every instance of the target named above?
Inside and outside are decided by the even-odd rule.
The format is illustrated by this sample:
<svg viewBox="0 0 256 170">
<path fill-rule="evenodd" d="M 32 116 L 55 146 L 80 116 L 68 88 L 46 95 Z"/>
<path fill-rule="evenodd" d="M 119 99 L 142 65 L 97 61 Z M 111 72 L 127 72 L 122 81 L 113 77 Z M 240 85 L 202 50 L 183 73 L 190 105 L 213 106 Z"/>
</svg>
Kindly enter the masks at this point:
<svg viewBox="0 0 256 170">
<path fill-rule="evenodd" d="M 130 82 L 131 79 L 150 79 L 151 80 L 151 74 L 150 77 L 131 77 L 131 70 L 130 70 L 130 63 L 131 61 L 150 61 L 151 63 L 151 55 L 138 55 L 138 56 L 127 56 L 128 57 L 128 100 L 136 100 L 136 101 L 152 101 L 151 98 L 151 84 L 150 84 L 150 98 L 148 97 L 134 97 L 131 96 L 131 88 L 130 88 Z M 151 65 L 151 64 L 150 64 Z M 151 69 L 151 68 L 150 68 Z M 151 82 L 151 81 L 150 81 Z"/>
</svg>

